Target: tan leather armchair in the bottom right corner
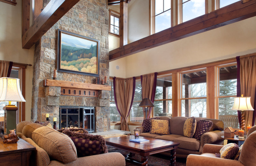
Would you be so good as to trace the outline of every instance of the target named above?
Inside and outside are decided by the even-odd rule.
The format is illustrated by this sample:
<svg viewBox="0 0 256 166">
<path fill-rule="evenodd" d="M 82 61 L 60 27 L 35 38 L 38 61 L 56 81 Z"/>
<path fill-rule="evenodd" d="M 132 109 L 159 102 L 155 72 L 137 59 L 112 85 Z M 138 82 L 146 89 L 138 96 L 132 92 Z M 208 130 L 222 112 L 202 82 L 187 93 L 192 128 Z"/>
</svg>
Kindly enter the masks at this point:
<svg viewBox="0 0 256 166">
<path fill-rule="evenodd" d="M 256 125 L 254 125 L 244 141 L 238 160 L 215 157 L 223 145 L 205 144 L 202 155 L 188 155 L 187 166 L 256 166 Z"/>
</svg>

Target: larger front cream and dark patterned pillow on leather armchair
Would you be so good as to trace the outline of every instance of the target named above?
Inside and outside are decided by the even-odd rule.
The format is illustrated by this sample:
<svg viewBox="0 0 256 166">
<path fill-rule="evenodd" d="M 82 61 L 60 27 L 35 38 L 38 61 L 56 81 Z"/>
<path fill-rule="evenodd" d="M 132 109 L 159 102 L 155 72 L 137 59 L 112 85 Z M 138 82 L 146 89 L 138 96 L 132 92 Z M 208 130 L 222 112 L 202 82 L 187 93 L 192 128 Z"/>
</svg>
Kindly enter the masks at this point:
<svg viewBox="0 0 256 166">
<path fill-rule="evenodd" d="M 229 143 L 220 149 L 220 158 L 234 159 L 238 150 L 238 145 L 236 145 L 235 143 Z"/>
</svg>

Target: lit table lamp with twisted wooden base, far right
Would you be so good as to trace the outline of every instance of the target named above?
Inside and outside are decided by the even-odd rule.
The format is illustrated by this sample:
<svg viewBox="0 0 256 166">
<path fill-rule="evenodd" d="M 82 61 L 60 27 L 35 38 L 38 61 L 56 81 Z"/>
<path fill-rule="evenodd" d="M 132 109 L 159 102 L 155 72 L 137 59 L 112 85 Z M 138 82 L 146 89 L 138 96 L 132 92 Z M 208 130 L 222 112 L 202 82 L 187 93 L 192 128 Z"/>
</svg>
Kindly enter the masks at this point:
<svg viewBox="0 0 256 166">
<path fill-rule="evenodd" d="M 232 110 L 238 110 L 241 112 L 240 128 L 241 130 L 244 130 L 244 111 L 250 111 L 254 109 L 252 108 L 251 97 L 243 97 L 243 94 L 241 96 L 242 97 L 235 97 L 235 102 Z"/>
</svg>

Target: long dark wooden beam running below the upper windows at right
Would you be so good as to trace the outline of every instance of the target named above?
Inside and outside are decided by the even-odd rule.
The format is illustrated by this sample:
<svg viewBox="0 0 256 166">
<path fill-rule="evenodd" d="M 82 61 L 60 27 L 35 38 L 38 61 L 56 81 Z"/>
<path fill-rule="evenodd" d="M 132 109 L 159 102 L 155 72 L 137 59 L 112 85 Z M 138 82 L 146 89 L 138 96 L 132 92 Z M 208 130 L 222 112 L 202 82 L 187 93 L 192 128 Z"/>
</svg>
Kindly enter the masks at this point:
<svg viewBox="0 0 256 166">
<path fill-rule="evenodd" d="M 164 45 L 172 41 L 177 41 L 195 34 L 200 34 L 202 32 L 254 16 L 256 16 L 256 0 L 251 0 L 244 4 L 242 4 L 242 1 L 238 1 L 216 11 L 212 11 L 211 13 L 204 14 L 195 19 L 191 19 L 138 41 L 129 43 L 121 49 L 117 48 L 111 50 L 109 51 L 109 61 L 126 57 L 147 49 Z"/>
</svg>

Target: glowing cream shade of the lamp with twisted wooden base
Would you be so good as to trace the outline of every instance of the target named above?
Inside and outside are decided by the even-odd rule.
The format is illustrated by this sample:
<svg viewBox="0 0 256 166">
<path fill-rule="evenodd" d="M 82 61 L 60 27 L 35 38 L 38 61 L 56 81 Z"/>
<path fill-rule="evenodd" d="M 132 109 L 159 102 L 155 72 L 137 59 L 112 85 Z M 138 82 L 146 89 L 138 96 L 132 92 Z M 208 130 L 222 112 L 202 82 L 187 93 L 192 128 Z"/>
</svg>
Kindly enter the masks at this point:
<svg viewBox="0 0 256 166">
<path fill-rule="evenodd" d="M 251 97 L 235 97 L 232 110 L 250 111 L 254 110 L 251 104 Z"/>
</svg>

